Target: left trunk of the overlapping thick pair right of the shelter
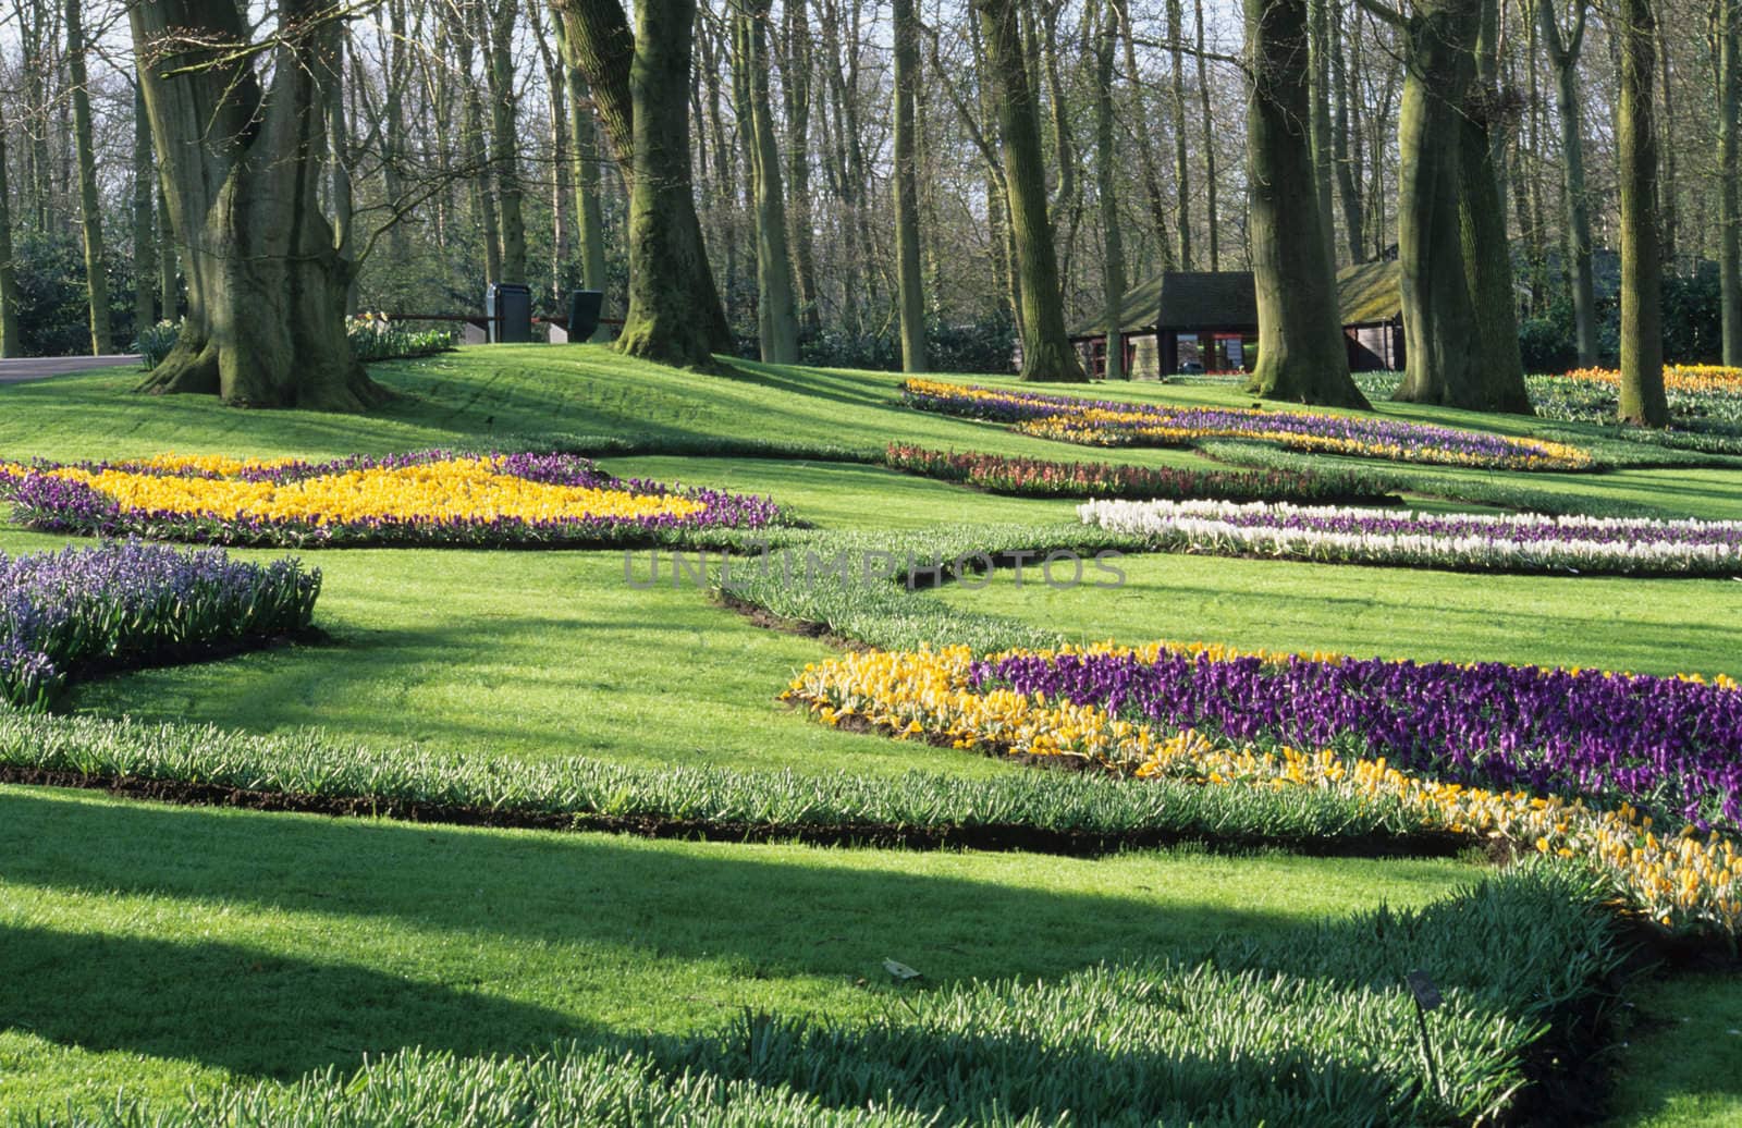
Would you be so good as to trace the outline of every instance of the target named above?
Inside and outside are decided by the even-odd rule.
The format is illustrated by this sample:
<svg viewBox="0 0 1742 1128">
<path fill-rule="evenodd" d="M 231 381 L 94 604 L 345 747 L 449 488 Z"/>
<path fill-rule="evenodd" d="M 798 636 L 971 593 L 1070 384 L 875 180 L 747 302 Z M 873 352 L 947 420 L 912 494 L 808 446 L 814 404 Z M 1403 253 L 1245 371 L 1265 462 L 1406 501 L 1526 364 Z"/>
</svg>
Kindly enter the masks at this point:
<svg viewBox="0 0 1742 1128">
<path fill-rule="evenodd" d="M 1406 26 L 1397 120 L 1397 258 L 1402 272 L 1404 381 L 1394 399 L 1486 406 L 1470 355 L 1475 308 L 1462 242 L 1463 110 L 1475 78 L 1475 0 L 1416 5 Z"/>
</svg>

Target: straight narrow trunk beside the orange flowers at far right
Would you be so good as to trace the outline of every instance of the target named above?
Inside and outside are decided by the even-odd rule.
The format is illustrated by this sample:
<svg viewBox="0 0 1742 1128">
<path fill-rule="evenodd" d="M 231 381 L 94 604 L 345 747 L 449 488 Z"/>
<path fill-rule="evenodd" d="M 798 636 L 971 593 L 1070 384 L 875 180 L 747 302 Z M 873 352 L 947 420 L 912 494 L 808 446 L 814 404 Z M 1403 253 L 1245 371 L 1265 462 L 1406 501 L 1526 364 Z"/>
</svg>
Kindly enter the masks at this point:
<svg viewBox="0 0 1742 1128">
<path fill-rule="evenodd" d="M 1657 226 L 1657 56 L 1650 0 L 1622 0 L 1617 28 L 1622 97 L 1617 120 L 1622 183 L 1622 390 L 1620 418 L 1669 425 L 1664 395 L 1664 259 Z"/>
</svg>

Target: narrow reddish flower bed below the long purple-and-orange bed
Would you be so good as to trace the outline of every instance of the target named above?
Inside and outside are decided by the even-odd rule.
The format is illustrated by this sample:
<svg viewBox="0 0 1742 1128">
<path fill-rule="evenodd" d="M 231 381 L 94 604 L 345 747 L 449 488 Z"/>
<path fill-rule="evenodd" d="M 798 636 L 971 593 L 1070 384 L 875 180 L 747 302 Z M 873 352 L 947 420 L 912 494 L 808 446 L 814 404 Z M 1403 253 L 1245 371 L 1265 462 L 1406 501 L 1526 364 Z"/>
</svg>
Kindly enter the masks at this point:
<svg viewBox="0 0 1742 1128">
<path fill-rule="evenodd" d="M 1040 458 L 930 451 L 888 444 L 883 463 L 944 482 L 1024 498 L 1221 498 L 1228 501 L 1381 501 L 1390 494 L 1361 473 L 1303 470 L 1186 470 L 1061 463 Z"/>
</svg>

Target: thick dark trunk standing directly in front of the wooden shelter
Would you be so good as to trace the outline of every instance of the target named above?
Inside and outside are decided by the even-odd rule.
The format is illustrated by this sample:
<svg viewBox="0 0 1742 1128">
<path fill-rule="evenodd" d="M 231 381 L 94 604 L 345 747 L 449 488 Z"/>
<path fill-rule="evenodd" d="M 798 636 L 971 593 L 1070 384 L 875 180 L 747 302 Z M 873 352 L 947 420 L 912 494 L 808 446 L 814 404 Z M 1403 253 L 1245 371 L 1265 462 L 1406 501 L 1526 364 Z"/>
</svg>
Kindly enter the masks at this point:
<svg viewBox="0 0 1742 1128">
<path fill-rule="evenodd" d="M 1367 407 L 1348 376 L 1336 275 L 1324 237 L 1308 96 L 1308 0 L 1246 0 L 1252 80 L 1246 118 L 1252 282 L 1258 289 L 1254 395 Z"/>
</svg>

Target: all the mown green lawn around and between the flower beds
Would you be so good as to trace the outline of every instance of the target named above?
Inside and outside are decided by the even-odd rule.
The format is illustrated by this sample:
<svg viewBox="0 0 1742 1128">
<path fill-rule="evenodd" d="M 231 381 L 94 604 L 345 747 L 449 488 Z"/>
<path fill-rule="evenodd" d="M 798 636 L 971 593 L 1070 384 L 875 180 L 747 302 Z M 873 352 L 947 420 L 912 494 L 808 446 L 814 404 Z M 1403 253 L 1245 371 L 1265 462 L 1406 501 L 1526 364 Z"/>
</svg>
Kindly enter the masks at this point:
<svg viewBox="0 0 1742 1128">
<path fill-rule="evenodd" d="M 859 449 L 908 440 L 1211 465 L 1192 451 L 1089 451 L 911 413 L 894 404 L 894 374 L 746 364 L 700 376 L 594 346 L 516 346 L 380 366 L 376 376 L 401 397 L 369 418 L 132 397 L 132 373 L 0 386 L 0 456 L 336 456 L 566 433 Z M 1094 395 L 1249 402 L 1214 386 Z M 1512 433 L 1550 426 L 1381 411 Z M 604 463 L 766 493 L 829 529 L 1054 522 L 1073 512 L 852 463 L 671 454 Z M 1742 470 L 1489 477 L 1742 517 Z M 61 545 L 0 527 L 5 552 Z M 831 653 L 826 644 L 758 628 L 672 587 L 669 574 L 638 590 L 620 552 L 303 555 L 324 573 L 324 641 L 101 679 L 80 686 L 71 708 L 251 731 L 321 726 L 375 747 L 505 759 L 1016 771 L 791 715 L 773 698 L 796 668 Z M 645 578 L 645 552 L 632 567 Z M 935 597 L 1078 639 L 1742 674 L 1735 581 L 1165 555 L 1127 557 L 1122 567 L 1129 583 L 1111 592 L 1017 588 L 1000 573 L 981 590 Z M 225 1076 L 294 1078 L 415 1043 L 516 1051 L 587 1031 L 702 1029 L 740 1006 L 869 1015 L 892 1003 L 885 956 L 928 982 L 1050 977 L 1120 954 L 1192 949 L 1225 930 L 1293 926 L 1380 900 L 1420 903 L 1469 872 L 1455 862 L 1192 853 L 1073 862 L 641 843 L 9 787 L 0 789 L 0 1116 L 110 1100 L 118 1084 L 174 1098 L 188 1083 Z M 1742 1029 L 1737 980 L 1679 977 L 1644 984 L 1636 997 L 1648 1020 L 1617 1050 L 1617 1112 L 1653 1125 L 1742 1118 L 1733 1083 L 1742 1037 L 1728 1034 Z"/>
</svg>

